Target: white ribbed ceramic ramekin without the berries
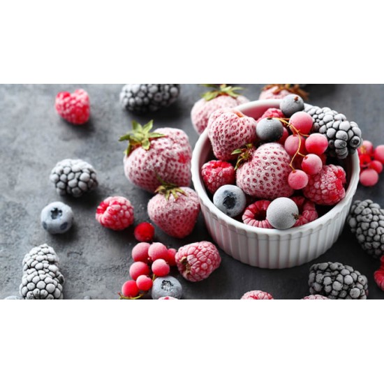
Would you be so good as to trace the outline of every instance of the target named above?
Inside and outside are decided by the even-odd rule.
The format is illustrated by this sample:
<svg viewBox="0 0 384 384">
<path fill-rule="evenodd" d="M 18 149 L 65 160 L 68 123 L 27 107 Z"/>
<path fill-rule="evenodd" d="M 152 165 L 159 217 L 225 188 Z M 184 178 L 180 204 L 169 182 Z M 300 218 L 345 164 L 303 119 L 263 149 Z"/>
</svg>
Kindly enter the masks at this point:
<svg viewBox="0 0 384 384">
<path fill-rule="evenodd" d="M 267 108 L 279 108 L 279 100 L 253 101 L 238 107 L 244 115 L 255 119 L 263 115 Z M 207 131 L 204 131 L 193 150 L 192 180 L 209 233 L 216 244 L 236 260 L 261 268 L 295 267 L 318 258 L 341 235 L 359 182 L 357 154 L 349 156 L 346 162 L 348 189 L 345 198 L 319 219 L 288 230 L 247 226 L 216 208 L 200 176 L 202 165 L 210 158 L 212 148 Z"/>
</svg>

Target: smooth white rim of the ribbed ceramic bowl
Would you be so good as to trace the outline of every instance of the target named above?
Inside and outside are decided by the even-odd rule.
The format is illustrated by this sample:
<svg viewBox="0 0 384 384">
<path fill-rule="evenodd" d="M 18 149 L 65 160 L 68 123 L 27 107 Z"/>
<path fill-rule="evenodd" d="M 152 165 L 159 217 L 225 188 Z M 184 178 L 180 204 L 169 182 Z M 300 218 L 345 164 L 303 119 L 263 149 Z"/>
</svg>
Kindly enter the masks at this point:
<svg viewBox="0 0 384 384">
<path fill-rule="evenodd" d="M 266 107 L 266 108 L 279 108 L 280 101 L 279 100 L 273 100 L 273 99 L 266 99 L 266 100 L 257 100 L 257 101 L 251 101 L 249 103 L 244 103 L 242 105 L 237 106 L 237 110 L 240 110 L 245 115 L 246 113 L 244 111 L 250 110 L 255 107 Z M 346 190 L 346 195 L 344 198 L 337 203 L 332 209 L 330 209 L 329 212 L 324 214 L 323 216 L 320 216 L 318 219 L 311 221 L 311 223 L 304 224 L 303 226 L 295 227 L 295 228 L 289 228 L 286 230 L 278 230 L 274 228 L 258 228 L 249 226 L 248 224 L 242 223 L 241 221 L 237 221 L 235 219 L 232 219 L 232 217 L 227 216 L 219 208 L 217 208 L 212 200 L 208 197 L 207 192 L 205 191 L 205 186 L 202 182 L 202 178 L 200 175 L 200 167 L 199 167 L 199 160 L 200 155 L 202 154 L 202 149 L 205 147 L 208 138 L 208 132 L 207 129 L 202 132 L 200 135 L 200 138 L 198 138 L 198 141 L 195 144 L 195 148 L 193 149 L 192 154 L 192 160 L 191 160 L 191 174 L 192 174 L 192 181 L 193 186 L 195 188 L 196 193 L 198 194 L 199 198 L 202 200 L 203 204 L 209 209 L 210 212 L 215 214 L 218 219 L 221 221 L 224 221 L 232 226 L 235 226 L 239 230 L 244 230 L 246 232 L 251 232 L 254 234 L 260 234 L 260 235 L 297 235 L 300 234 L 300 232 L 307 232 L 307 230 L 314 230 L 318 228 L 319 226 L 325 225 L 328 221 L 333 219 L 335 216 L 340 214 L 346 205 L 350 204 L 353 195 L 355 195 L 357 184 L 359 182 L 359 158 L 357 156 L 357 152 L 355 154 L 351 155 L 351 164 L 352 164 L 352 175 L 350 176 L 350 182 L 348 184 L 348 189 Z"/>
</svg>

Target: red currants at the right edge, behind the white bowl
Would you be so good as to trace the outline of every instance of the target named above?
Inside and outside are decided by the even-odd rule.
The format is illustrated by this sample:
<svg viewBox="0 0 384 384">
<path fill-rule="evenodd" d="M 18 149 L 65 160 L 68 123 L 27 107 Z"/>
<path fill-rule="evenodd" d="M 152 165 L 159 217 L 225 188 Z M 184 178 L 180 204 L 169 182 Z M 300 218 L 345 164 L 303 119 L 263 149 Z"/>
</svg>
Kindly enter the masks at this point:
<svg viewBox="0 0 384 384">
<path fill-rule="evenodd" d="M 384 145 L 374 145 L 364 140 L 357 149 L 360 158 L 360 183 L 363 186 L 374 186 L 378 182 L 378 174 L 383 171 Z"/>
</svg>

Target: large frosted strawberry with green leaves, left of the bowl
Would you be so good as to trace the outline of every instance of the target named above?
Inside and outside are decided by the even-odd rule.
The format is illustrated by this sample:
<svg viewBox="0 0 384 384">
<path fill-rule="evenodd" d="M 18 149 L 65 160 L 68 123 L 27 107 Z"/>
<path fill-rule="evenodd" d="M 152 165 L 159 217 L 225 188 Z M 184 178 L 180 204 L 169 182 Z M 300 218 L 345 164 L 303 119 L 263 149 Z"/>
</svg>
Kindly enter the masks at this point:
<svg viewBox="0 0 384 384">
<path fill-rule="evenodd" d="M 132 131 L 119 141 L 128 141 L 124 156 L 124 172 L 130 182 L 154 193 L 161 183 L 158 177 L 177 185 L 191 183 L 192 149 L 184 131 L 157 128 L 153 120 L 142 126 L 132 121 Z"/>
</svg>

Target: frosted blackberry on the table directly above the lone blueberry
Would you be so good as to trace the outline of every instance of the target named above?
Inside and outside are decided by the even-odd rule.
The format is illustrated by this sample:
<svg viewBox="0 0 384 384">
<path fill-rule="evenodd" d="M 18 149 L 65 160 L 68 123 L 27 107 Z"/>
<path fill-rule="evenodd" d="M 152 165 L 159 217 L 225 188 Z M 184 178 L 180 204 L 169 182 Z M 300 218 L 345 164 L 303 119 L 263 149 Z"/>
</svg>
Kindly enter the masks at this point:
<svg viewBox="0 0 384 384">
<path fill-rule="evenodd" d="M 75 198 L 98 186 L 94 167 L 80 158 L 59 161 L 51 171 L 50 180 L 59 195 L 72 195 Z"/>
</svg>

